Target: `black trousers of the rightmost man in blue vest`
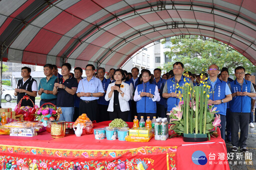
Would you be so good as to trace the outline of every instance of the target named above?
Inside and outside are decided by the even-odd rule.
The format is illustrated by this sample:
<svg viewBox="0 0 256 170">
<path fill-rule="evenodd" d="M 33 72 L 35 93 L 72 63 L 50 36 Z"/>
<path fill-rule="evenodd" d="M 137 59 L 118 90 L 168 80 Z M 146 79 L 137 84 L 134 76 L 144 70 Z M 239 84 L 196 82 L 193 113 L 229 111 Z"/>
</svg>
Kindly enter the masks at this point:
<svg viewBox="0 0 256 170">
<path fill-rule="evenodd" d="M 232 128 L 231 139 L 232 145 L 235 147 L 246 148 L 246 140 L 248 138 L 250 113 L 232 112 Z M 240 138 L 238 131 L 240 127 Z"/>
</svg>

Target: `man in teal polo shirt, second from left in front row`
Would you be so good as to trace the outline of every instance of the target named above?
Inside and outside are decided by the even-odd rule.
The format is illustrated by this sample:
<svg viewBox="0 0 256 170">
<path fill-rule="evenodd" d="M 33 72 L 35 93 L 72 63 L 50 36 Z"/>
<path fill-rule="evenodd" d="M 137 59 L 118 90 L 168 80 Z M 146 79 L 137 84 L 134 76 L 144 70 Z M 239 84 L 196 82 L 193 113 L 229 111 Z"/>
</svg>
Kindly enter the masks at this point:
<svg viewBox="0 0 256 170">
<path fill-rule="evenodd" d="M 51 64 L 45 64 L 43 66 L 43 73 L 46 77 L 40 80 L 38 86 L 38 95 L 41 96 L 40 107 L 44 103 L 48 102 L 56 105 L 57 96 L 53 95 L 52 90 L 54 86 L 54 81 L 57 77 L 52 75 L 52 68 L 53 66 Z"/>
</svg>

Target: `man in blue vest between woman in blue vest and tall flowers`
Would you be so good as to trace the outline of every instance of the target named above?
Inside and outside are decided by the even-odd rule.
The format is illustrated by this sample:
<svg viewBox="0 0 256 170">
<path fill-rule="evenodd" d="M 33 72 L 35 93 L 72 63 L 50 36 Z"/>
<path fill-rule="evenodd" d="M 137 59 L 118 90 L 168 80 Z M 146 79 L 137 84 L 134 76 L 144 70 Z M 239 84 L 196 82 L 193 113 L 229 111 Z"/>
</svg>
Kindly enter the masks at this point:
<svg viewBox="0 0 256 170">
<path fill-rule="evenodd" d="M 167 98 L 167 113 L 169 113 L 173 107 L 178 106 L 179 98 L 181 98 L 182 94 L 181 87 L 185 83 L 192 85 L 192 81 L 182 75 L 183 72 L 184 65 L 181 62 L 175 62 L 173 64 L 174 76 L 169 78 L 164 84 L 162 97 Z"/>
</svg>

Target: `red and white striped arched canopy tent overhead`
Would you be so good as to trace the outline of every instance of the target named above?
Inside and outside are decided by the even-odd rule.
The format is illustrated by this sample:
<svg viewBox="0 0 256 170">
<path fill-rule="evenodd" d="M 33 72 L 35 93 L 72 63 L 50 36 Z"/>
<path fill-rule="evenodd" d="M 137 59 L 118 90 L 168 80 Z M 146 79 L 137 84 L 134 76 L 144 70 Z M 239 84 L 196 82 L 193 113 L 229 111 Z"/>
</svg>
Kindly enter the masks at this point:
<svg viewBox="0 0 256 170">
<path fill-rule="evenodd" d="M 255 0 L 1 0 L 3 61 L 121 66 L 176 35 L 229 44 L 256 63 Z"/>
</svg>

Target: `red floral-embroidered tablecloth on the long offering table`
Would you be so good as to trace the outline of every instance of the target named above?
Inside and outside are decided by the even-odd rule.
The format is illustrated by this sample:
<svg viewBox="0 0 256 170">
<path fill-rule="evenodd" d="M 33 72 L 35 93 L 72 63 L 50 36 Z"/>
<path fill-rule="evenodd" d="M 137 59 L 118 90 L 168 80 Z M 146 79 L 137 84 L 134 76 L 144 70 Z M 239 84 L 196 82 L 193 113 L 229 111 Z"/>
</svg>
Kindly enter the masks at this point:
<svg viewBox="0 0 256 170">
<path fill-rule="evenodd" d="M 108 123 L 95 123 L 93 128 L 102 128 Z M 206 159 L 206 164 L 196 165 L 198 158 Z M 122 166 L 125 166 L 123 170 L 229 170 L 225 143 L 220 137 L 202 143 L 185 143 L 181 137 L 133 143 L 95 140 L 94 135 L 85 134 L 59 139 L 51 138 L 47 132 L 31 138 L 0 136 L 0 168 L 9 160 L 24 170 L 29 166 L 42 170 L 79 170 L 75 169 L 76 163 L 83 170 L 122 170 Z"/>
</svg>

